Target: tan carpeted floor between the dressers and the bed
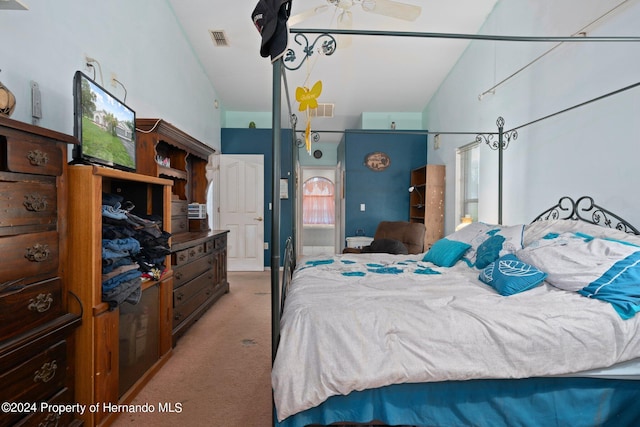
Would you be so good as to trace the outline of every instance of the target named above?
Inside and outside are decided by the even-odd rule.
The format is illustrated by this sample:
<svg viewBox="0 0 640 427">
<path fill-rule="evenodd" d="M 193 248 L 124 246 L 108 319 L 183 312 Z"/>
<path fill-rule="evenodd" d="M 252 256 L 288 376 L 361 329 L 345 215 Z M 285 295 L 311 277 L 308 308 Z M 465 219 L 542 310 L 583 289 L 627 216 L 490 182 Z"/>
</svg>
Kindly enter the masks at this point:
<svg viewBox="0 0 640 427">
<path fill-rule="evenodd" d="M 181 412 L 121 414 L 113 426 L 271 425 L 270 272 L 230 272 L 229 283 L 132 402 Z"/>
</svg>

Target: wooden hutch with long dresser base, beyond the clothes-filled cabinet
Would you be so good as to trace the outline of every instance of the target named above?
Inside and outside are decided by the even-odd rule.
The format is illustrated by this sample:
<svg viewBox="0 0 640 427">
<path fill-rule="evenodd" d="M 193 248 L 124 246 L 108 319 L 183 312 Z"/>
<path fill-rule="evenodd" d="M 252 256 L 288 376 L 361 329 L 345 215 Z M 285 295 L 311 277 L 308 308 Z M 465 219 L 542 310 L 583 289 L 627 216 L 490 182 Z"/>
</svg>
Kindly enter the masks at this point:
<svg viewBox="0 0 640 427">
<path fill-rule="evenodd" d="M 137 171 L 173 182 L 171 262 L 173 344 L 223 294 L 227 281 L 228 230 L 209 229 L 207 218 L 190 219 L 190 203 L 207 203 L 207 164 L 215 150 L 162 119 L 136 119 Z"/>
</svg>

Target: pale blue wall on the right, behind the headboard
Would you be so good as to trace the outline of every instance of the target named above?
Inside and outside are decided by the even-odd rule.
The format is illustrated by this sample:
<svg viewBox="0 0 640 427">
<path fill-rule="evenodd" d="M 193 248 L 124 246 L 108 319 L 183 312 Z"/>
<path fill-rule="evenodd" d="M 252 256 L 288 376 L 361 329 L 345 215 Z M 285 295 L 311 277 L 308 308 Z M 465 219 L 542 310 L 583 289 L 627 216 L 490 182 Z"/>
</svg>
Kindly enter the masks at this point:
<svg viewBox="0 0 640 427">
<path fill-rule="evenodd" d="M 585 0 L 567 10 L 564 2 L 501 1 L 481 33 L 569 36 L 619 3 Z M 588 29 L 588 35 L 637 36 L 638 22 L 640 4 L 628 2 Z M 564 43 L 495 94 L 478 99 L 553 46 L 472 42 L 425 109 L 425 128 L 495 132 L 502 116 L 509 130 L 639 81 L 640 43 Z M 640 202 L 633 190 L 640 184 L 638 118 L 640 88 L 520 129 L 504 153 L 503 222 L 526 223 L 563 195 L 592 195 L 640 224 Z M 447 165 L 446 232 L 456 224 L 455 149 L 473 140 L 470 135 L 442 135 L 439 150 L 429 144 L 429 162 Z M 481 147 L 481 221 L 497 221 L 497 158 L 488 146 Z"/>
</svg>

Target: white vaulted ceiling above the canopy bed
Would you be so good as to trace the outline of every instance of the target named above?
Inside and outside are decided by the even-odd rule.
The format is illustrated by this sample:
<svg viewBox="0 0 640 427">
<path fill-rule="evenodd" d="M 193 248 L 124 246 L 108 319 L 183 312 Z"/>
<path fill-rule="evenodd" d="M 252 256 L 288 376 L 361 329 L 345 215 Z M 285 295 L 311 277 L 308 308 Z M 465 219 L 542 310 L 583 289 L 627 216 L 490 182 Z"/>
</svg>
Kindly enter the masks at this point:
<svg viewBox="0 0 640 427">
<path fill-rule="evenodd" d="M 261 38 L 251 20 L 257 0 L 169 0 L 195 54 L 226 111 L 269 112 L 272 65 L 260 56 Z M 475 34 L 496 0 L 293 0 L 291 28 Z M 415 12 L 418 16 L 414 18 Z M 390 15 L 399 15 L 403 19 Z M 411 20 L 409 20 L 411 19 Z M 299 21 L 299 22 L 298 22 Z M 214 42 L 211 32 L 224 38 Z M 303 56 L 290 34 L 289 47 Z M 312 43 L 317 34 L 307 34 Z M 318 80 L 321 103 L 335 104 L 333 118 L 314 119 L 314 128 L 359 127 L 362 112 L 421 112 L 460 57 L 468 40 L 397 36 L 336 36 L 331 56 L 317 52 L 296 71 L 286 71 L 293 112 L 296 87 Z M 290 67 L 297 64 L 289 64 Z M 302 113 L 298 113 L 300 116 Z M 303 122 L 304 123 L 304 122 Z M 300 127 L 300 126 L 299 126 Z"/>
</svg>

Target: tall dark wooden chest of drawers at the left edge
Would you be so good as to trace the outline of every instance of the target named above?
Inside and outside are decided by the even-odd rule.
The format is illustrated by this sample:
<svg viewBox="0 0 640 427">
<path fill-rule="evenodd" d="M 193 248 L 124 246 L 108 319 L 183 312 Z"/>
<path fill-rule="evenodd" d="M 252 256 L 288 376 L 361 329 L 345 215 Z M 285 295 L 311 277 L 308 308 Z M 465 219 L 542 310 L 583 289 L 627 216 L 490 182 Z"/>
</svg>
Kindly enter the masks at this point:
<svg viewBox="0 0 640 427">
<path fill-rule="evenodd" d="M 0 426 L 66 426 L 74 413 L 75 338 L 67 255 L 68 135 L 0 117 Z M 6 405 L 6 404 L 5 404 Z"/>
</svg>

